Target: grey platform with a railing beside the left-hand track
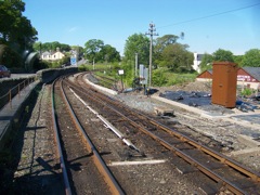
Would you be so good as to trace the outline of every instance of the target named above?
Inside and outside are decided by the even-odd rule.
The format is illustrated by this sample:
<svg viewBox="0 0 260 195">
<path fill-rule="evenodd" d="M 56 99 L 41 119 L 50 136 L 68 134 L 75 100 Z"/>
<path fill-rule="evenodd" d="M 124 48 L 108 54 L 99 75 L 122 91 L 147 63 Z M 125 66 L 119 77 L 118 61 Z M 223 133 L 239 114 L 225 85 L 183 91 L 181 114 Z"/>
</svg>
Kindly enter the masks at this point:
<svg viewBox="0 0 260 195">
<path fill-rule="evenodd" d="M 21 116 L 38 84 L 39 81 L 31 82 L 0 109 L 0 151 L 4 146 L 8 135 L 15 128 L 15 123 L 21 121 Z"/>
</svg>

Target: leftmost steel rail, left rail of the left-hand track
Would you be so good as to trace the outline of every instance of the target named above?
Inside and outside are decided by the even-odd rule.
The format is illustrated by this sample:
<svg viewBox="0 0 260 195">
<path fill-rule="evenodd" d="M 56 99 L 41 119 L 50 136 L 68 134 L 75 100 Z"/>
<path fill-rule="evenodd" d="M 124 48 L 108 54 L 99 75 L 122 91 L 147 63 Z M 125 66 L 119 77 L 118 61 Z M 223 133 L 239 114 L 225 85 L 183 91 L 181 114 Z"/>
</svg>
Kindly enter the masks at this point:
<svg viewBox="0 0 260 195">
<path fill-rule="evenodd" d="M 54 136 L 55 136 L 55 142 L 57 145 L 57 154 L 58 154 L 58 158 L 60 158 L 60 164 L 61 164 L 61 168 L 62 168 L 62 172 L 63 172 L 63 180 L 64 180 L 64 184 L 65 184 L 65 193 L 67 195 L 72 195 L 72 187 L 69 185 L 69 181 L 68 181 L 68 174 L 67 174 L 67 169 L 66 169 L 66 165 L 65 165 L 65 160 L 63 157 L 63 152 L 62 152 L 62 146 L 61 146 L 61 140 L 58 136 L 58 130 L 57 130 L 57 122 L 56 122 L 56 114 L 55 114 L 55 100 L 54 100 L 54 86 L 56 83 L 57 79 L 53 81 L 52 83 L 52 122 L 53 122 L 53 129 L 54 129 Z"/>
</svg>

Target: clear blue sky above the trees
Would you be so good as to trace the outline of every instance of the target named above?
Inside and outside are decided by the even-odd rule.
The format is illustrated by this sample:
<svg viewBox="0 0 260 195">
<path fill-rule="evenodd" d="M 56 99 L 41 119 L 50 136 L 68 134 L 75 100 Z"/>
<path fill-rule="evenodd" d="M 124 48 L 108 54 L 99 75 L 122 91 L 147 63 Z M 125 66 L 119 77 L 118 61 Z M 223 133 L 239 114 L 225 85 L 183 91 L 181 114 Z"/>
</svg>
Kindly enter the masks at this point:
<svg viewBox="0 0 260 195">
<path fill-rule="evenodd" d="M 260 0 L 24 0 L 38 41 L 81 46 L 101 39 L 121 54 L 150 23 L 159 37 L 185 34 L 191 52 L 260 49 Z M 252 6 L 251 6 L 252 5 Z M 155 37 L 156 38 L 156 37 Z"/>
</svg>

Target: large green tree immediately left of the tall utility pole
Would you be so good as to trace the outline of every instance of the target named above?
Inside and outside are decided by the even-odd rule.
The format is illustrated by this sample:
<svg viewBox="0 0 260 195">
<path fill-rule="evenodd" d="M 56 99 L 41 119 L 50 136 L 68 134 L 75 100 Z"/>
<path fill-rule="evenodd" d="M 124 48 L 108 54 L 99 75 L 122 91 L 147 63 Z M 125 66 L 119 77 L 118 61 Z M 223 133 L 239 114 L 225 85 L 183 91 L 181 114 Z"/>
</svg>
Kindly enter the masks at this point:
<svg viewBox="0 0 260 195">
<path fill-rule="evenodd" d="M 123 61 L 133 63 L 135 53 L 138 53 L 139 64 L 148 64 L 150 39 L 143 34 L 133 34 L 128 37 L 123 49 Z"/>
</svg>

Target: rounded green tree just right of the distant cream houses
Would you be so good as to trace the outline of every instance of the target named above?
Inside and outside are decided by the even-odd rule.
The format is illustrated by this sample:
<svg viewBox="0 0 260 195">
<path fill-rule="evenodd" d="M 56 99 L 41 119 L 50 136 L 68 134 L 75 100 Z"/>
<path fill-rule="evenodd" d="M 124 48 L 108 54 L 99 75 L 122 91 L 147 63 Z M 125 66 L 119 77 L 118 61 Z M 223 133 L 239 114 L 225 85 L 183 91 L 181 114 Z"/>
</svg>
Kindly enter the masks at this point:
<svg viewBox="0 0 260 195">
<path fill-rule="evenodd" d="M 99 62 L 102 60 L 100 51 L 104 47 L 104 41 L 100 39 L 91 39 L 84 43 L 86 57 L 90 62 Z"/>
</svg>

